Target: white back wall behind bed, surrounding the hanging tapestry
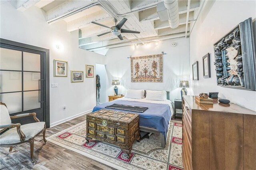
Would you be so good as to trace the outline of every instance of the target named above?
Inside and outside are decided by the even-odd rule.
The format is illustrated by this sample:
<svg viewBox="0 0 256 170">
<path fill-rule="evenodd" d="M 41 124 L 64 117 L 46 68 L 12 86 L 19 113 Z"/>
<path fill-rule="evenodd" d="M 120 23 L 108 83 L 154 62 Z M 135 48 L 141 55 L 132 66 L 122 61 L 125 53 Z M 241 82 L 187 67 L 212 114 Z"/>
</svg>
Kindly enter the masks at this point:
<svg viewBox="0 0 256 170">
<path fill-rule="evenodd" d="M 172 47 L 176 42 L 176 47 Z M 130 59 L 127 57 L 159 54 L 163 55 L 163 83 L 132 83 Z M 114 86 L 110 85 L 112 79 L 119 79 L 118 94 L 125 95 L 126 89 L 148 89 L 170 91 L 170 99 L 180 99 L 180 80 L 189 80 L 189 40 L 188 38 L 176 38 L 172 40 L 148 43 L 147 45 L 129 45 L 108 50 L 107 66 L 107 95 L 112 95 Z M 189 92 L 188 92 L 189 94 Z"/>
</svg>

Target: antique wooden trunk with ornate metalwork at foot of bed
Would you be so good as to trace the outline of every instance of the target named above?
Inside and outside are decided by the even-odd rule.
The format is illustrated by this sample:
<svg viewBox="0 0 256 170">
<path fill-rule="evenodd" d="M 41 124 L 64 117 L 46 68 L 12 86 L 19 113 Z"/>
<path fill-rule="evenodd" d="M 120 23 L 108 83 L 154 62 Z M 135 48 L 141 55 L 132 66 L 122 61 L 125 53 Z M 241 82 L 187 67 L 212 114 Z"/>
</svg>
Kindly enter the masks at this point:
<svg viewBox="0 0 256 170">
<path fill-rule="evenodd" d="M 134 140 L 140 139 L 139 115 L 101 109 L 86 115 L 86 130 L 87 140 L 114 144 L 129 155 Z"/>
</svg>

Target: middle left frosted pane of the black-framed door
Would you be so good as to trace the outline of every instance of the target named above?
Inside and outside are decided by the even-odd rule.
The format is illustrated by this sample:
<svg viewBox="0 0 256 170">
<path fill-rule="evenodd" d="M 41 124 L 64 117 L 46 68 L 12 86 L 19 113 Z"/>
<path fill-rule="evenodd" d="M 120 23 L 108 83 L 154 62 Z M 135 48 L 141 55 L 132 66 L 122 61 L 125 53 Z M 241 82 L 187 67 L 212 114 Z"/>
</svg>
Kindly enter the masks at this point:
<svg viewBox="0 0 256 170">
<path fill-rule="evenodd" d="M 0 92 L 12 92 L 22 90 L 20 71 L 0 71 Z"/>
</svg>

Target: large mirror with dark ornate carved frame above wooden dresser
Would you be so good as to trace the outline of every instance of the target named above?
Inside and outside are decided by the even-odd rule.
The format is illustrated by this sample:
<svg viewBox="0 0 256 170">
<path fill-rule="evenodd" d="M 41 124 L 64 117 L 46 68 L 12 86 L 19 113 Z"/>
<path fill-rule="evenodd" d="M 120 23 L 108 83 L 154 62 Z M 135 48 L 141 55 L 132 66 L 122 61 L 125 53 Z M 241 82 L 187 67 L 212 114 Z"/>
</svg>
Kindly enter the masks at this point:
<svg viewBox="0 0 256 170">
<path fill-rule="evenodd" d="M 256 56 L 252 18 L 238 24 L 214 44 L 217 85 L 256 90 Z"/>
</svg>

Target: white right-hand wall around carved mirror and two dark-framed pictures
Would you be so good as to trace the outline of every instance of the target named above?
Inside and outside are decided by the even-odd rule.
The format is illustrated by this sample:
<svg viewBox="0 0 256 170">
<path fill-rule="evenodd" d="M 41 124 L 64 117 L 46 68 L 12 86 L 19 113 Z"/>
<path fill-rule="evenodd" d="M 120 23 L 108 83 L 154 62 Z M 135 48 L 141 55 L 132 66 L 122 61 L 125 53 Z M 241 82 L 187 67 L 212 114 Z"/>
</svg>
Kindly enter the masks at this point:
<svg viewBox="0 0 256 170">
<path fill-rule="evenodd" d="M 256 17 L 256 1 L 208 1 L 190 35 L 190 82 L 192 95 L 219 92 L 219 97 L 256 111 L 256 91 L 216 85 L 213 44 L 240 22 Z M 254 35 L 255 37 L 255 35 Z M 202 57 L 211 54 L 211 78 L 203 78 Z M 199 81 L 192 80 L 192 64 L 198 61 Z"/>
</svg>

